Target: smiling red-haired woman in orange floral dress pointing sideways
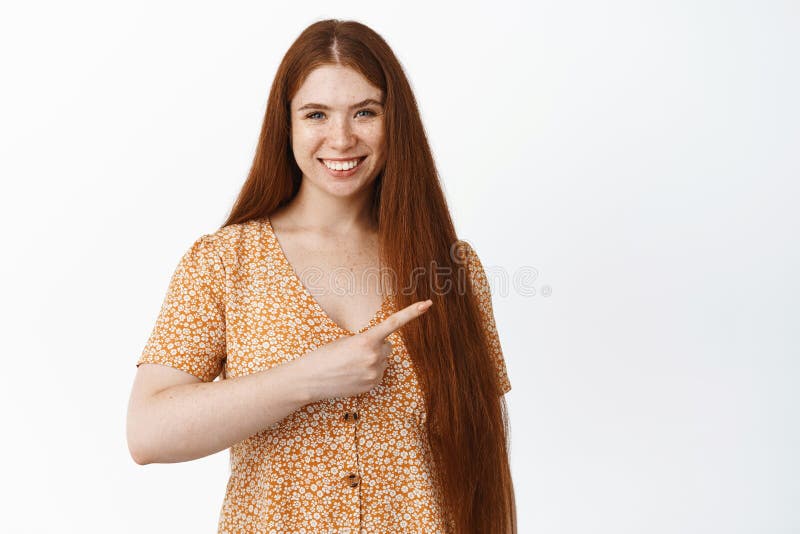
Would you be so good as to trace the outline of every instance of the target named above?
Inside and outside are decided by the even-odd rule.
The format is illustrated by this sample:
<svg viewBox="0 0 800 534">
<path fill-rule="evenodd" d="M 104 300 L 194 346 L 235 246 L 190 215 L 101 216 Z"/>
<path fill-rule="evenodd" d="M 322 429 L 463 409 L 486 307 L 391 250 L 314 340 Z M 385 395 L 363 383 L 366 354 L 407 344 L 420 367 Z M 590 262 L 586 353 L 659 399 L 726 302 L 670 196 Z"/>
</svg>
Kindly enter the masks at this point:
<svg viewBox="0 0 800 534">
<path fill-rule="evenodd" d="M 286 53 L 247 181 L 137 366 L 137 463 L 230 448 L 220 532 L 516 532 L 486 276 L 362 24 L 317 22 Z"/>
</svg>

